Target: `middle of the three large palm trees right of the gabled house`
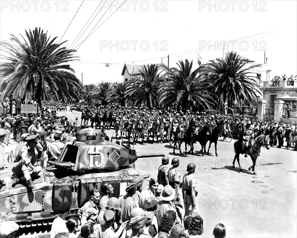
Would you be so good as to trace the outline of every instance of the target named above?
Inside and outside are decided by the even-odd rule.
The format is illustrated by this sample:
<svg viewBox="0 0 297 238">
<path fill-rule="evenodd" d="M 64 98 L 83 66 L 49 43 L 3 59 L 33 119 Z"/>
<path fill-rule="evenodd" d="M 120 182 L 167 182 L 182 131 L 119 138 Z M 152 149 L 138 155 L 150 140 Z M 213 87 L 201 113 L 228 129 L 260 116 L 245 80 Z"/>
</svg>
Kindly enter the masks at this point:
<svg viewBox="0 0 297 238">
<path fill-rule="evenodd" d="M 177 63 L 179 68 L 171 68 L 168 79 L 164 80 L 158 90 L 159 103 L 167 106 L 182 106 L 183 110 L 192 107 L 209 109 L 214 106 L 214 95 L 206 90 L 209 82 L 200 77 L 202 67 L 192 72 L 193 60 Z"/>
</svg>

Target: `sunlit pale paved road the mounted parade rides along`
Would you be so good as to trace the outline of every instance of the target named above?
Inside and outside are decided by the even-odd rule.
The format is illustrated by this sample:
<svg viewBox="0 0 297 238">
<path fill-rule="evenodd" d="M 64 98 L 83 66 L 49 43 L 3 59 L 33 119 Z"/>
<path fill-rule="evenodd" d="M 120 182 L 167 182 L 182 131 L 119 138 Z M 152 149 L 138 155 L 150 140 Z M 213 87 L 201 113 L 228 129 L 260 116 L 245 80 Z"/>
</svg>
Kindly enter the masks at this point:
<svg viewBox="0 0 297 238">
<path fill-rule="evenodd" d="M 66 114 L 58 114 L 63 113 Z M 66 116 L 69 121 L 73 121 L 77 115 L 80 117 L 79 112 Z M 108 135 L 111 137 L 112 130 L 108 130 Z M 218 157 L 214 155 L 214 148 L 210 149 L 213 154 L 203 157 L 200 154 L 180 156 L 172 153 L 173 147 L 168 143 L 136 144 L 134 148 L 139 153 L 163 152 L 170 159 L 179 157 L 179 171 L 182 175 L 186 173 L 188 163 L 197 165 L 196 212 L 204 220 L 204 233 L 201 237 L 213 237 L 213 228 L 218 223 L 226 226 L 229 238 L 297 237 L 296 151 L 262 148 L 255 168 L 257 175 L 253 175 L 247 170 L 252 164 L 249 157 L 245 159 L 241 155 L 243 172 L 239 172 L 237 163 L 236 168 L 232 168 L 233 142 L 219 141 Z M 195 150 L 200 150 L 199 144 L 195 144 Z M 156 177 L 160 161 L 161 158 L 141 158 L 136 161 L 136 169 L 142 175 Z"/>
</svg>

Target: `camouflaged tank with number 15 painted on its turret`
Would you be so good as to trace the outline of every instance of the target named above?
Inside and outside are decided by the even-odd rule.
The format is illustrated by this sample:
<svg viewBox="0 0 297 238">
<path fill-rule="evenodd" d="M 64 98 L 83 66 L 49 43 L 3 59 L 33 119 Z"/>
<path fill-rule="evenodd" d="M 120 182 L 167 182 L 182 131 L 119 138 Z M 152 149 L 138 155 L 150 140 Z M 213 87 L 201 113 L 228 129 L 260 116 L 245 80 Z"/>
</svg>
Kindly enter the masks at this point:
<svg viewBox="0 0 297 238">
<path fill-rule="evenodd" d="M 59 158 L 48 161 L 30 190 L 25 184 L 12 188 L 15 176 L 11 169 L 1 172 L 4 183 L 0 186 L 1 220 L 14 221 L 20 225 L 20 234 L 33 230 L 49 230 L 62 202 L 70 202 L 69 216 L 90 199 L 90 190 L 101 190 L 104 183 L 114 188 L 113 196 L 126 192 L 127 185 L 142 176 L 133 163 L 142 157 L 158 157 L 164 154 L 140 154 L 129 145 L 105 141 L 100 130 L 82 129 L 77 131 L 77 140 L 65 143 Z"/>
</svg>

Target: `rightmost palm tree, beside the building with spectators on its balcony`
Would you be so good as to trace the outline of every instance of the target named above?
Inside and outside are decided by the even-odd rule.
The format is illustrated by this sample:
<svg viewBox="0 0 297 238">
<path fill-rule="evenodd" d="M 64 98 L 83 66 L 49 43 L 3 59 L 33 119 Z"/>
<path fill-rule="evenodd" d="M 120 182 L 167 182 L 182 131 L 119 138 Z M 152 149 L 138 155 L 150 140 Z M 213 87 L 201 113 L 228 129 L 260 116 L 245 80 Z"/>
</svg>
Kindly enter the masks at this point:
<svg viewBox="0 0 297 238">
<path fill-rule="evenodd" d="M 220 100 L 231 107 L 235 101 L 257 104 L 256 92 L 259 87 L 249 70 L 259 65 L 247 66 L 254 61 L 241 58 L 236 52 L 226 53 L 225 59 L 210 60 L 206 78 L 213 82 L 212 90 Z"/>
</svg>

